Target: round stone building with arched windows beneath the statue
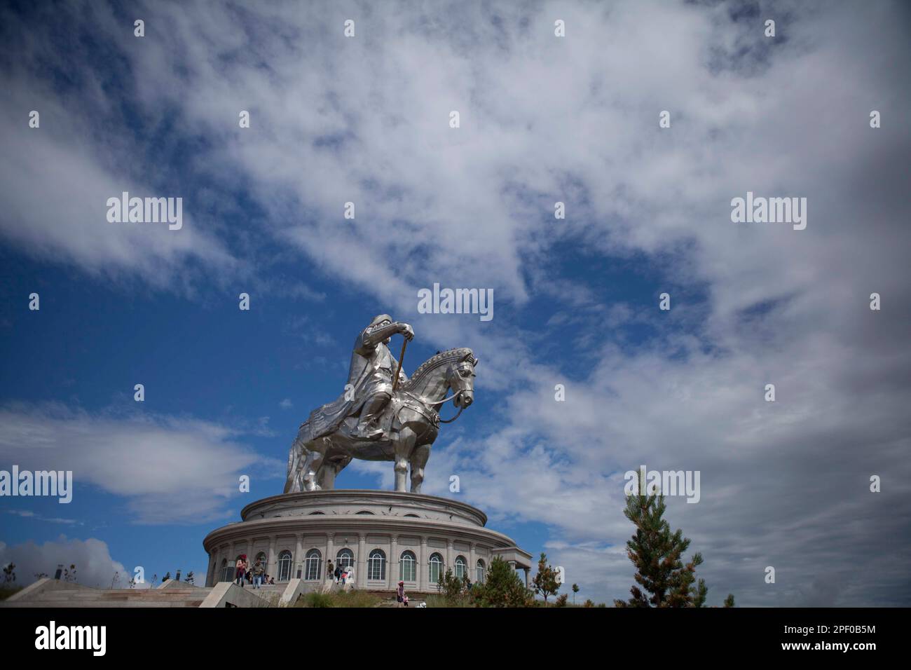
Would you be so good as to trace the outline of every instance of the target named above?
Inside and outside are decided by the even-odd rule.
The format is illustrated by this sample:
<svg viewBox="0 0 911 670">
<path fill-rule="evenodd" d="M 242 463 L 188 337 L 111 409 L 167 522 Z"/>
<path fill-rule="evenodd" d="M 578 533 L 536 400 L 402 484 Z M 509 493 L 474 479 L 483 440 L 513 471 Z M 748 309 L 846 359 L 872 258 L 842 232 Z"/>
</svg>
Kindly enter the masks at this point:
<svg viewBox="0 0 911 670">
<path fill-rule="evenodd" d="M 315 590 L 333 569 L 350 565 L 354 583 L 368 591 L 433 593 L 451 568 L 484 581 L 499 556 L 528 571 L 531 555 L 506 535 L 485 527 L 486 514 L 464 502 L 384 490 L 318 490 L 251 502 L 236 523 L 202 541 L 209 553 L 206 585 L 230 582 L 237 557 L 261 557 L 276 583 L 302 579 Z"/>
</svg>

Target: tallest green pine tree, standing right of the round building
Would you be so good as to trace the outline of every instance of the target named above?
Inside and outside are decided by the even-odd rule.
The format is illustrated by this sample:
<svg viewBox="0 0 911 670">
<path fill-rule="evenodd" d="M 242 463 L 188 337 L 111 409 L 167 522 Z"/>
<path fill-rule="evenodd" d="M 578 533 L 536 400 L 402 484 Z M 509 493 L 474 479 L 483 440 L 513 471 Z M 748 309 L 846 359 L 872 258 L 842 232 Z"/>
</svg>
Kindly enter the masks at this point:
<svg viewBox="0 0 911 670">
<path fill-rule="evenodd" d="M 670 532 L 670 524 L 663 519 L 665 509 L 664 496 L 649 495 L 640 478 L 639 493 L 630 495 L 623 512 L 636 526 L 636 534 L 627 541 L 636 584 L 630 588 L 629 601 L 614 601 L 618 607 L 691 607 L 705 600 L 705 582 L 700 581 L 696 589 L 692 586 L 702 556 L 697 553 L 683 564 L 681 554 L 690 547 L 690 539 L 680 529 Z"/>
</svg>

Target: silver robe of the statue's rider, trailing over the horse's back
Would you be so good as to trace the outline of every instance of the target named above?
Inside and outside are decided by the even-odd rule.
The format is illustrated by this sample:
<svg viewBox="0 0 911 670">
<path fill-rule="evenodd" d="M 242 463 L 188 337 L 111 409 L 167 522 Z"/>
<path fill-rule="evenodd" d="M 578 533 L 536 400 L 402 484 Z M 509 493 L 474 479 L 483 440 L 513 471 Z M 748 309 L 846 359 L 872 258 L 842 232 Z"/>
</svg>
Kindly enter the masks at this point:
<svg viewBox="0 0 911 670">
<path fill-rule="evenodd" d="M 361 411 L 363 402 L 368 397 L 385 392 L 392 395 L 393 376 L 398 361 L 383 342 L 372 345 L 367 338 L 370 328 L 364 328 L 354 340 L 354 351 L 351 355 L 351 366 L 348 370 L 348 384 L 352 392 L 342 393 L 333 402 L 317 407 L 310 413 L 310 418 L 301 426 L 298 438 L 304 442 L 322 438 L 333 432 L 343 420 Z M 406 381 L 404 373 L 399 382 Z M 351 400 L 346 399 L 351 397 Z"/>
</svg>

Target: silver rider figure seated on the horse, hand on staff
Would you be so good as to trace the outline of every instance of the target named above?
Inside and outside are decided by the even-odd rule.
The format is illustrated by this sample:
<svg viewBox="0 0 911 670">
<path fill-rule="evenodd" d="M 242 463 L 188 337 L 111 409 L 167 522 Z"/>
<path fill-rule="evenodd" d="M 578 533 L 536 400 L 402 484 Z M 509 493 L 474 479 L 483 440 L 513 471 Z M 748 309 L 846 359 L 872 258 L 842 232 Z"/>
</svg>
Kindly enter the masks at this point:
<svg viewBox="0 0 911 670">
<path fill-rule="evenodd" d="M 376 421 L 393 395 L 393 376 L 398 362 L 386 345 L 396 333 L 409 341 L 415 336 L 410 325 L 394 322 L 389 314 L 379 314 L 354 342 L 348 381 L 355 386 L 355 397 L 363 398 L 363 403 L 357 403 L 361 407 L 358 438 L 374 439 L 383 435 L 383 429 Z M 399 384 L 406 381 L 408 377 L 400 371 Z"/>
</svg>

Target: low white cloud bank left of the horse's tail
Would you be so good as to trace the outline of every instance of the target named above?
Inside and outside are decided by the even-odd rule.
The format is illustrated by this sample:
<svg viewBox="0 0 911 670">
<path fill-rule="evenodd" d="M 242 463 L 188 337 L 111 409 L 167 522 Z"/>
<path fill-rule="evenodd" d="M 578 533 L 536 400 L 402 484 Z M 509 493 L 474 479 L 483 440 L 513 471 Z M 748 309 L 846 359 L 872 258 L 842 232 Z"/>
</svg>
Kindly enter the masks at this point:
<svg viewBox="0 0 911 670">
<path fill-rule="evenodd" d="M 72 470 L 76 487 L 93 484 L 125 497 L 143 523 L 224 520 L 241 474 L 284 472 L 284 463 L 235 441 L 235 428 L 191 418 L 17 404 L 0 408 L 0 426 L 0 460 L 20 469 Z"/>
</svg>

